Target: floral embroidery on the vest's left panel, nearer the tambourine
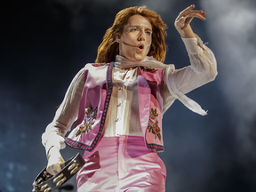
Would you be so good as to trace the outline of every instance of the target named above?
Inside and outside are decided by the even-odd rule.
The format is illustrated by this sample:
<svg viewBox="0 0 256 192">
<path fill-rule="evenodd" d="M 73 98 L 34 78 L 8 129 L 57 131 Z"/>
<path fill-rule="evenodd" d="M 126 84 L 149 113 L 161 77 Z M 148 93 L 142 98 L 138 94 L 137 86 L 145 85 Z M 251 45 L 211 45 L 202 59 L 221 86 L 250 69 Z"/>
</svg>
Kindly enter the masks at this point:
<svg viewBox="0 0 256 192">
<path fill-rule="evenodd" d="M 98 108 L 95 108 L 94 111 L 92 111 L 92 108 L 90 107 L 85 109 L 84 124 L 79 126 L 79 130 L 76 132 L 76 137 L 78 135 L 82 136 L 83 132 L 89 132 L 89 130 L 92 130 L 92 124 L 94 124 L 92 121 L 96 118 L 97 111 Z"/>
</svg>

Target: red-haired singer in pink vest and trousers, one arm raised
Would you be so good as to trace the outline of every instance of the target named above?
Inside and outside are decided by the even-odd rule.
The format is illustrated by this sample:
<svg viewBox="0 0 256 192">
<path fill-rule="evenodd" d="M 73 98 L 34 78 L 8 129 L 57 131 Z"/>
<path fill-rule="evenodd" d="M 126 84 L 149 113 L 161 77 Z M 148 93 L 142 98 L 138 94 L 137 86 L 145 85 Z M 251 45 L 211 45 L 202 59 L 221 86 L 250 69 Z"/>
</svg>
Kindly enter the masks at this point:
<svg viewBox="0 0 256 192">
<path fill-rule="evenodd" d="M 162 116 L 176 99 L 205 115 L 184 94 L 217 75 L 213 53 L 189 25 L 194 17 L 205 20 L 205 12 L 194 8 L 189 6 L 175 20 L 191 62 L 178 70 L 162 63 L 166 25 L 156 12 L 142 6 L 116 14 L 96 62 L 77 73 L 42 136 L 48 172 L 60 172 L 60 149 L 66 142 L 84 149 L 77 191 L 165 190 L 166 170 L 157 155 L 164 150 Z"/>
</svg>

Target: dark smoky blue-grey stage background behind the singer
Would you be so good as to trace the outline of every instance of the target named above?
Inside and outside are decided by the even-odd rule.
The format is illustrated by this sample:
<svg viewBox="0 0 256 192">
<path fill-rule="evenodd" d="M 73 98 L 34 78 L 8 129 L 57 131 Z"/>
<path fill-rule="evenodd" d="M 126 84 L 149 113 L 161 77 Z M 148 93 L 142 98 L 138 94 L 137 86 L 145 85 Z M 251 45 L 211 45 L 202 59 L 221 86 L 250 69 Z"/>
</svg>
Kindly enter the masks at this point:
<svg viewBox="0 0 256 192">
<path fill-rule="evenodd" d="M 189 64 L 173 23 L 190 4 L 207 12 L 206 21 L 194 19 L 191 26 L 218 61 L 216 80 L 188 93 L 207 116 L 178 100 L 164 114 L 159 156 L 167 169 L 166 191 L 256 190 L 254 0 L 10 0 L 2 2 L 0 18 L 0 191 L 32 190 L 47 163 L 41 135 L 68 84 L 95 60 L 116 13 L 143 4 L 168 26 L 164 63 Z M 66 160 L 77 152 L 61 151 Z M 68 184 L 76 191 L 75 178 Z"/>
</svg>

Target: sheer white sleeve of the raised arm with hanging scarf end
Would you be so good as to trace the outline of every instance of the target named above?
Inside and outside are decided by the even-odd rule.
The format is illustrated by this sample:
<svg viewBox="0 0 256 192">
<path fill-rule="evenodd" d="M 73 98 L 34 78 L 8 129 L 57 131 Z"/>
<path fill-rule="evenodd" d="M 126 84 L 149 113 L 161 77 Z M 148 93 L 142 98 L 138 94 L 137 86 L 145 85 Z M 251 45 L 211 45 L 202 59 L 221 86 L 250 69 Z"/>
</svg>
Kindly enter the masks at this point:
<svg viewBox="0 0 256 192">
<path fill-rule="evenodd" d="M 213 81 L 218 74 L 217 62 L 213 52 L 203 44 L 198 36 L 196 38 L 182 38 L 182 40 L 186 46 L 191 65 L 180 69 L 173 69 L 170 66 L 170 69 L 166 68 L 164 71 L 164 111 L 172 105 L 175 99 L 178 99 L 187 108 L 204 116 L 206 112 L 185 94 Z M 204 55 L 203 50 L 208 54 L 210 60 Z"/>
</svg>

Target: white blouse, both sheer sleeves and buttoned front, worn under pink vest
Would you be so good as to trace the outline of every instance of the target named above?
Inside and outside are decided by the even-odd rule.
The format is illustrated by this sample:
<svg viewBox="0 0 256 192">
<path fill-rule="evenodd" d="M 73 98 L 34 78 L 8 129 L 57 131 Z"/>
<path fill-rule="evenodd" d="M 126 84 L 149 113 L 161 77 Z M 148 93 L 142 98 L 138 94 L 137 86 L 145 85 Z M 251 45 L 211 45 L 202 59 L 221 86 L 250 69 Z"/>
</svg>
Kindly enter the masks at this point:
<svg viewBox="0 0 256 192">
<path fill-rule="evenodd" d="M 203 44 L 201 39 L 198 37 L 197 39 L 182 38 L 182 40 L 186 46 L 191 65 L 185 68 L 164 71 L 164 76 L 167 78 L 163 79 L 162 86 L 163 115 L 176 99 L 195 111 L 194 108 L 198 108 L 199 105 L 188 99 L 184 94 L 212 81 L 217 75 L 217 63 L 214 54 Z M 203 49 L 211 60 L 204 55 Z M 122 62 L 122 57 L 119 56 L 116 59 L 116 61 Z M 143 136 L 140 128 L 137 71 L 138 68 L 130 70 L 124 70 L 116 66 L 113 68 L 114 86 L 103 137 Z M 78 116 L 83 89 L 84 68 L 72 80 L 52 123 L 48 124 L 42 135 L 42 143 L 46 152 L 52 146 L 65 148 L 64 137 L 70 131 Z M 205 115 L 204 112 L 202 115 Z"/>
</svg>

